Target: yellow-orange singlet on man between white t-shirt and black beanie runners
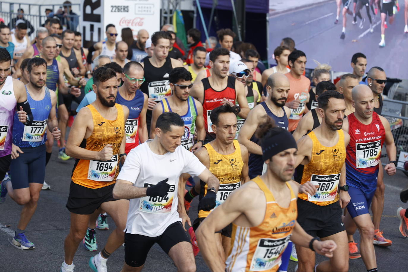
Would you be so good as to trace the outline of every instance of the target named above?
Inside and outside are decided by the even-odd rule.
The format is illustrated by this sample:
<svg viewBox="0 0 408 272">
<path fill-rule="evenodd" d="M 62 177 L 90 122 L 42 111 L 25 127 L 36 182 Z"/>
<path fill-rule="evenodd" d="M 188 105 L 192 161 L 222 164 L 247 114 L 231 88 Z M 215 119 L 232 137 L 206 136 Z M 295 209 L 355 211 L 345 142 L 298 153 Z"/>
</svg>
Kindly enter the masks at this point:
<svg viewBox="0 0 408 272">
<path fill-rule="evenodd" d="M 238 140 L 234 140 L 233 143 L 235 151 L 228 155 L 218 153 L 210 143 L 204 145 L 210 156 L 210 172 L 220 180 L 220 187 L 218 187 L 217 198 L 215 200 L 215 208 L 224 203 L 233 190 L 241 186 L 241 172 L 244 167 L 244 161 L 242 161 L 241 147 L 239 146 Z M 200 181 L 200 183 L 201 199 L 207 194 L 208 186 L 204 181 Z M 199 210 L 198 217 L 207 217 L 210 212 Z"/>
</svg>

